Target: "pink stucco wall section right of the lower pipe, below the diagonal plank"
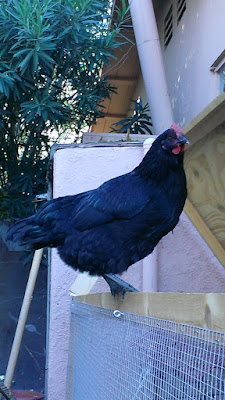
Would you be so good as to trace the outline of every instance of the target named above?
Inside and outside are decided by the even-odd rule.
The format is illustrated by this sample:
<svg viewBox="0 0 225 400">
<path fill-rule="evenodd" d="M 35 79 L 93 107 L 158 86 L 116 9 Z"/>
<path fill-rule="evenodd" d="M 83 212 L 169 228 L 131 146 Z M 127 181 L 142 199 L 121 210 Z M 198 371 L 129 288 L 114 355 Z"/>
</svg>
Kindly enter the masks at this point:
<svg viewBox="0 0 225 400">
<path fill-rule="evenodd" d="M 225 292 L 224 267 L 185 213 L 157 250 L 159 292 Z"/>
</svg>

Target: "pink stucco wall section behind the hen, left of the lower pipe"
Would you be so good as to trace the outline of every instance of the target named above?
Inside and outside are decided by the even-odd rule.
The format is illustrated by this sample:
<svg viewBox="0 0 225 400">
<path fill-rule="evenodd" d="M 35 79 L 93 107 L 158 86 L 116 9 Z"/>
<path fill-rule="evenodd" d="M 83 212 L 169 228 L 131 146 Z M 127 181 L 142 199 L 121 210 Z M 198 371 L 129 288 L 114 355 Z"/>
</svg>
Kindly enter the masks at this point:
<svg viewBox="0 0 225 400">
<path fill-rule="evenodd" d="M 54 197 L 94 189 L 104 181 L 132 170 L 142 159 L 142 146 L 77 147 L 56 151 L 54 155 Z M 132 266 L 124 278 L 142 289 L 142 263 Z M 137 272 L 138 271 L 138 272 Z M 69 346 L 70 294 L 77 273 L 52 251 L 50 276 L 50 321 L 48 339 L 47 399 L 66 399 Z M 100 278 L 94 292 L 108 291 Z M 88 400 L 88 399 L 87 399 Z"/>
</svg>

